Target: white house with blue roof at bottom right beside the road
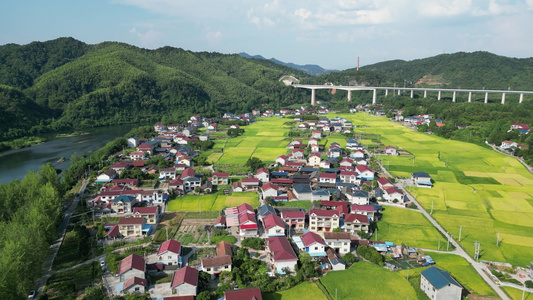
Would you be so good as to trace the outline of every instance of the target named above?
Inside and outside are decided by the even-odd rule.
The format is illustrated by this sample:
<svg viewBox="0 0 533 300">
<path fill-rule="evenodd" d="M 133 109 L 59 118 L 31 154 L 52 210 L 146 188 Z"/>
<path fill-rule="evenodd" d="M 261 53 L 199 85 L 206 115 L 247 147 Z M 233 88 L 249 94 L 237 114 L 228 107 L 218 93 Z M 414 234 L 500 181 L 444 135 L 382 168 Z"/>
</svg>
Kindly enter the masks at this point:
<svg viewBox="0 0 533 300">
<path fill-rule="evenodd" d="M 450 276 L 450 273 L 437 267 L 430 267 L 420 273 L 420 289 L 429 299 L 462 299 L 463 287 Z"/>
</svg>

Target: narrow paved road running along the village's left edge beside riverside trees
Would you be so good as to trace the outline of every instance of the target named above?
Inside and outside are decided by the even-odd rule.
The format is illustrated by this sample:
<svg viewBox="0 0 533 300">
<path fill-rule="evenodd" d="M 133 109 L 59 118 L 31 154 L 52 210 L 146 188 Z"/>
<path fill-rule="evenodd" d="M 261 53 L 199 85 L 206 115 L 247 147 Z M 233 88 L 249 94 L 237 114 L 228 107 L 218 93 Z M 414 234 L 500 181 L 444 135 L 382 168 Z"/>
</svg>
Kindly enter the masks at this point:
<svg viewBox="0 0 533 300">
<path fill-rule="evenodd" d="M 58 229 L 58 239 L 50 245 L 51 254 L 48 257 L 48 259 L 43 264 L 43 276 L 37 281 L 37 295 L 40 295 L 43 292 L 44 286 L 46 285 L 46 282 L 48 281 L 48 278 L 53 274 L 52 272 L 52 264 L 54 263 L 54 259 L 56 258 L 57 253 L 59 252 L 59 248 L 61 247 L 61 244 L 63 243 L 63 239 L 65 238 L 65 234 L 67 232 L 67 225 L 70 222 L 70 217 L 72 216 L 72 212 L 78 206 L 78 202 L 80 201 L 81 197 L 78 197 L 77 195 L 83 195 L 83 192 L 85 191 L 85 188 L 87 187 L 87 180 L 84 180 L 80 190 L 78 193 L 74 196 L 74 201 L 72 201 L 72 204 L 70 205 L 69 209 L 65 212 L 65 217 L 63 218 L 63 222 L 61 223 L 61 226 L 59 226 Z"/>
</svg>

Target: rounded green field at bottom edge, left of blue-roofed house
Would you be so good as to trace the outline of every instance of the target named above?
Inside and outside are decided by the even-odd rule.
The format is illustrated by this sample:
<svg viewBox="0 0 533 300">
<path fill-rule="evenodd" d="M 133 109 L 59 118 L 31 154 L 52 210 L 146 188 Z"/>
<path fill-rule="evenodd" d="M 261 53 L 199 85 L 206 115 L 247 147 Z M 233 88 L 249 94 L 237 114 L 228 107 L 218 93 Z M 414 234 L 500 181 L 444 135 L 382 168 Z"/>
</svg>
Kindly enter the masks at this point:
<svg viewBox="0 0 533 300">
<path fill-rule="evenodd" d="M 416 291 L 403 276 L 371 263 L 360 261 L 345 271 L 328 272 L 320 279 L 330 296 L 335 299 L 354 299 L 364 295 L 365 299 L 416 299 Z"/>
</svg>

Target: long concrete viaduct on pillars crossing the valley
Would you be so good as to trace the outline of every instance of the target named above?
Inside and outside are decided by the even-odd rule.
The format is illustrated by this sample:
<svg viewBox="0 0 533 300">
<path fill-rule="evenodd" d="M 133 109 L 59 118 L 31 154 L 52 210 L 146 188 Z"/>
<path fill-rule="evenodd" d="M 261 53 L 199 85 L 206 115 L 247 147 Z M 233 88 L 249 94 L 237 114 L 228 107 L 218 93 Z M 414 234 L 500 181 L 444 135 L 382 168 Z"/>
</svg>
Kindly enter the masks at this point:
<svg viewBox="0 0 533 300">
<path fill-rule="evenodd" d="M 423 92 L 424 98 L 427 98 L 428 92 L 436 92 L 437 100 L 441 100 L 442 92 L 453 93 L 452 101 L 456 102 L 457 93 L 468 93 L 468 102 L 472 102 L 472 93 L 485 94 L 485 103 L 489 101 L 489 94 L 501 94 L 502 104 L 505 104 L 506 94 L 518 94 L 520 95 L 519 102 L 524 101 L 524 95 L 533 95 L 533 91 L 510 91 L 510 90 L 471 90 L 471 89 L 436 89 L 436 88 L 402 88 L 402 87 L 375 87 L 375 86 L 342 86 L 342 85 L 310 85 L 310 84 L 293 84 L 293 87 L 311 90 L 311 105 L 315 105 L 315 91 L 316 90 L 345 90 L 348 91 L 348 101 L 352 101 L 352 91 L 372 91 L 372 104 L 377 103 L 378 90 L 385 91 L 385 97 L 389 95 L 389 91 L 395 93 L 397 91 L 398 96 L 401 91 L 408 91 L 411 93 L 411 98 L 414 97 L 415 92 Z"/>
</svg>

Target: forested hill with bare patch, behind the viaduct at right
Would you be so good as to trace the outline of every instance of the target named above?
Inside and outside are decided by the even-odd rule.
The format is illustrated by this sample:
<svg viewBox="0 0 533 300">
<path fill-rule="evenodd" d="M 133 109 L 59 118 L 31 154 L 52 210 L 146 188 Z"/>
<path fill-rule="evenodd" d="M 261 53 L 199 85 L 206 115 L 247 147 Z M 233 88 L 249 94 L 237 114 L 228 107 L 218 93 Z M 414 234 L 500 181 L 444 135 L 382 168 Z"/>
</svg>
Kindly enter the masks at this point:
<svg viewBox="0 0 533 300">
<path fill-rule="evenodd" d="M 412 61 L 391 60 L 361 70 L 387 74 L 399 85 L 533 90 L 533 58 L 510 58 L 489 52 L 458 52 Z"/>
</svg>

